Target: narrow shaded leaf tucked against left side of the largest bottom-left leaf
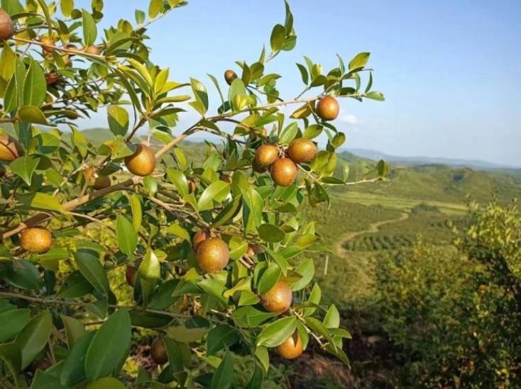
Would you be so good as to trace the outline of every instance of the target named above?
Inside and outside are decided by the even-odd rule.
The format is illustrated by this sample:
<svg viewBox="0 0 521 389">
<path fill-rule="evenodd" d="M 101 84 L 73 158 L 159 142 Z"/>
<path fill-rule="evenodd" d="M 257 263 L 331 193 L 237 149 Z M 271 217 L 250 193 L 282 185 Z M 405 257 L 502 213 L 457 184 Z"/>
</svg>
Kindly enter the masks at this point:
<svg viewBox="0 0 521 389">
<path fill-rule="evenodd" d="M 63 361 L 60 373 L 60 383 L 62 385 L 75 386 L 87 378 L 85 374 L 85 358 L 95 334 L 96 332 L 83 334 L 73 346 L 70 346 L 69 354 Z"/>
</svg>

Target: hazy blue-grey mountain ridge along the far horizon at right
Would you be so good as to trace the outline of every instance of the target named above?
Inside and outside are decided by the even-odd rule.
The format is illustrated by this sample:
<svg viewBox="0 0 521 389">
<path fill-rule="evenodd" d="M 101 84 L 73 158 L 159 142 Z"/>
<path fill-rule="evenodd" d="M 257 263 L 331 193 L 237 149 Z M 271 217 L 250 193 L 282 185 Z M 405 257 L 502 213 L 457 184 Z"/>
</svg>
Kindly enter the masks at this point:
<svg viewBox="0 0 521 389">
<path fill-rule="evenodd" d="M 521 170 L 521 167 L 513 167 L 503 164 L 495 164 L 493 162 L 481 161 L 479 159 L 457 159 L 443 157 L 399 157 L 396 155 L 385 154 L 376 150 L 368 149 L 349 149 L 346 150 L 358 157 L 368 159 L 384 159 L 386 162 L 402 165 L 420 165 L 420 164 L 443 164 L 449 167 L 470 167 L 478 170 Z"/>
</svg>

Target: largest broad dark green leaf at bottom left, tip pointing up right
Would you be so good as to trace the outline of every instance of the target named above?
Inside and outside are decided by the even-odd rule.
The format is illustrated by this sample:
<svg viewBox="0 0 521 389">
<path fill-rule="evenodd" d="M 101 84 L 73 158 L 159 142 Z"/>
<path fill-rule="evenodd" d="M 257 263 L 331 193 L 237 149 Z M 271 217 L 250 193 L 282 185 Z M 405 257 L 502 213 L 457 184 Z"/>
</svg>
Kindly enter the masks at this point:
<svg viewBox="0 0 521 389">
<path fill-rule="evenodd" d="M 90 381 L 114 373 L 128 356 L 131 347 L 131 320 L 126 310 L 118 310 L 103 323 L 92 339 L 85 358 L 85 373 Z"/>
</svg>

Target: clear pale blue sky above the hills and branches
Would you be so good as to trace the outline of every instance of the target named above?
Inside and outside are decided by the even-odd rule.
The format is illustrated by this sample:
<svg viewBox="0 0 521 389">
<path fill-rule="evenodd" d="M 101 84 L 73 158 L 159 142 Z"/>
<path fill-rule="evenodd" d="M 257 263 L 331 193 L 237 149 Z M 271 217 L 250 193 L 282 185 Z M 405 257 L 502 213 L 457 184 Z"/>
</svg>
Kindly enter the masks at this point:
<svg viewBox="0 0 521 389">
<path fill-rule="evenodd" d="M 197 78 L 211 95 L 206 74 L 222 79 L 225 69 L 237 69 L 235 60 L 257 60 L 271 28 L 284 21 L 282 0 L 189 2 L 150 26 L 148 44 L 171 79 Z M 133 21 L 136 8 L 148 7 L 142 0 L 105 4 L 112 23 Z M 302 90 L 295 66 L 302 55 L 331 69 L 336 53 L 349 61 L 371 52 L 373 89 L 387 101 L 343 99 L 336 124 L 347 147 L 521 166 L 521 1 L 292 0 L 290 6 L 297 47 L 268 69 L 283 74 L 281 96 Z"/>
</svg>

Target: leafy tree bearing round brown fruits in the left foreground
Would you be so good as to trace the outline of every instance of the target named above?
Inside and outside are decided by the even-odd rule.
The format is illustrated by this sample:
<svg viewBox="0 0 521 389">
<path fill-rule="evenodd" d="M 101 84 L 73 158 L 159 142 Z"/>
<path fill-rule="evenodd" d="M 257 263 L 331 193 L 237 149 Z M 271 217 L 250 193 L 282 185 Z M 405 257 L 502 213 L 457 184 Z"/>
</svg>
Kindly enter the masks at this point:
<svg viewBox="0 0 521 389">
<path fill-rule="evenodd" d="M 100 31 L 102 0 L 1 0 L 1 387 L 228 388 L 241 349 L 256 366 L 248 388 L 261 388 L 270 349 L 293 359 L 310 339 L 348 363 L 349 333 L 312 285 L 311 256 L 324 247 L 299 209 L 356 184 L 337 169 L 345 135 L 330 120 L 337 98 L 383 100 L 369 53 L 327 73 L 305 57 L 302 94 L 281 97 L 268 64 L 296 44 L 285 4 L 269 50 L 236 62 L 226 88 L 209 76 L 220 100 L 211 114 L 207 87 L 172 81 L 146 46 L 150 24 L 185 4 L 152 0 L 135 23 Z M 92 145 L 75 123 L 100 108 L 111 140 Z M 187 110 L 199 119 L 180 129 Z M 223 142 L 187 160 L 180 142 L 204 132 Z M 380 162 L 361 181 L 386 171 Z M 121 288 L 131 301 L 116 298 Z M 137 377 L 125 367 L 133 328 L 155 334 L 161 366 Z"/>
</svg>

